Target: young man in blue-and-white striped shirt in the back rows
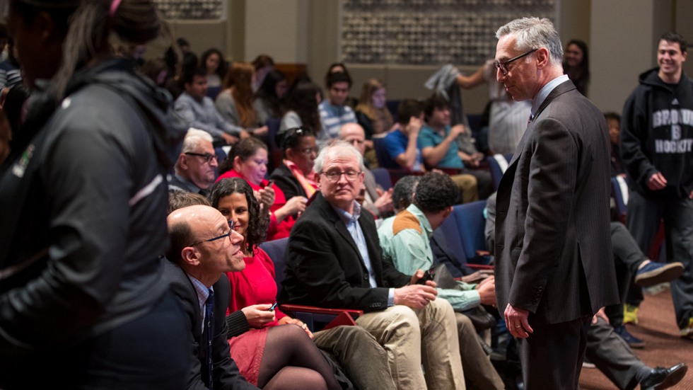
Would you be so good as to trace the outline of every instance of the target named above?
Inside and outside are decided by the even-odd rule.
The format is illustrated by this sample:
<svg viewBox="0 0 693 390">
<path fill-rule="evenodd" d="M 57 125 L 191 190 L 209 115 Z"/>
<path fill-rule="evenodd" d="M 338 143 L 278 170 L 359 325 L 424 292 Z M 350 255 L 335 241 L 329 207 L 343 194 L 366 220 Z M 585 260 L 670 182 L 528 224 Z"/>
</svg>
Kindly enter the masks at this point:
<svg viewBox="0 0 693 390">
<path fill-rule="evenodd" d="M 328 98 L 318 105 L 320 125 L 318 144 L 324 146 L 330 139 L 339 136 L 339 127 L 345 123 L 356 123 L 354 110 L 347 105 L 347 97 L 351 89 L 351 77 L 345 72 L 327 74 Z"/>
</svg>

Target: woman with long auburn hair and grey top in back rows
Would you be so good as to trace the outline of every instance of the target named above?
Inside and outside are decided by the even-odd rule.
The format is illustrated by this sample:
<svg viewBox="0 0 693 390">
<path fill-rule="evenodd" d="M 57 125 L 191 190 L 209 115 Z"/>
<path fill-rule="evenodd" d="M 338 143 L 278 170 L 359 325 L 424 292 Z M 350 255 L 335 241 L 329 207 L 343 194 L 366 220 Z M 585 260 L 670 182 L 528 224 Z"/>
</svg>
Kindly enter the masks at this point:
<svg viewBox="0 0 693 390">
<path fill-rule="evenodd" d="M 254 70 L 246 62 L 233 62 L 223 81 L 223 91 L 216 96 L 216 110 L 232 125 L 243 127 L 255 137 L 267 136 L 267 126 L 260 122 L 252 105 Z"/>
</svg>

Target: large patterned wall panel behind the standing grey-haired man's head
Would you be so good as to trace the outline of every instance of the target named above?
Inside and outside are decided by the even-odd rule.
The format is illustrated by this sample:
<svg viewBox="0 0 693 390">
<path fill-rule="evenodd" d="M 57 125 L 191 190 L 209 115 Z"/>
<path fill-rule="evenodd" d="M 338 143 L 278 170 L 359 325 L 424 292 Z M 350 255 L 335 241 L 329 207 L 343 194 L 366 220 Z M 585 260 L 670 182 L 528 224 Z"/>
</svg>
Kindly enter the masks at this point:
<svg viewBox="0 0 693 390">
<path fill-rule="evenodd" d="M 342 60 L 357 64 L 479 65 L 495 31 L 520 16 L 555 23 L 557 0 L 344 0 Z"/>
</svg>

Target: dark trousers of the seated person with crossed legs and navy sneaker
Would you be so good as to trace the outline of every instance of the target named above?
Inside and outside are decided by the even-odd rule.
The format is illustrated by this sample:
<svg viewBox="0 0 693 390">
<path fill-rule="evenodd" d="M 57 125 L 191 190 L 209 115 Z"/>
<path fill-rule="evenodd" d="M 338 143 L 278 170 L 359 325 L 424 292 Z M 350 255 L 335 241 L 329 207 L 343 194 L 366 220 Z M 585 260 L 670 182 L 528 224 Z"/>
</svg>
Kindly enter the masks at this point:
<svg viewBox="0 0 693 390">
<path fill-rule="evenodd" d="M 611 223 L 611 247 L 616 260 L 616 279 L 619 288 L 619 304 L 606 306 L 605 312 L 612 326 L 623 324 L 623 304 L 630 289 L 639 289 L 633 282 L 633 276 L 638 266 L 647 256 L 640 250 L 640 246 L 631 236 L 626 226 L 621 222 Z"/>
</svg>

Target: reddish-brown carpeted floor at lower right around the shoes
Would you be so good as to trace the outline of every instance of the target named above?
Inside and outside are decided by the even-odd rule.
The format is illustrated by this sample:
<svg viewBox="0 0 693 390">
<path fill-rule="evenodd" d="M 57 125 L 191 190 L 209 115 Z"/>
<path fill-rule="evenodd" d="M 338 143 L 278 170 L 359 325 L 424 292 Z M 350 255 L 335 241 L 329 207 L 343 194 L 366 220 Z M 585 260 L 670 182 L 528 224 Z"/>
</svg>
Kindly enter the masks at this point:
<svg viewBox="0 0 693 390">
<path fill-rule="evenodd" d="M 645 294 L 638 316 L 638 325 L 627 325 L 631 334 L 646 343 L 644 349 L 634 350 L 635 354 L 651 367 L 670 367 L 685 362 L 689 367 L 686 377 L 671 389 L 693 390 L 693 340 L 678 336 L 670 290 L 656 295 Z M 617 389 L 598 369 L 583 368 L 580 386 L 583 390 Z"/>
</svg>

